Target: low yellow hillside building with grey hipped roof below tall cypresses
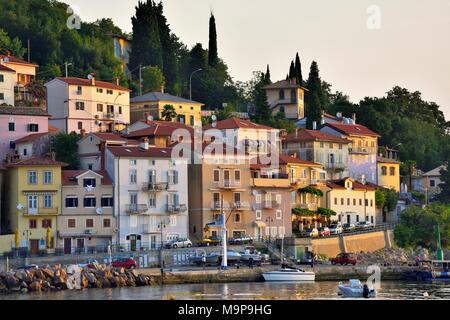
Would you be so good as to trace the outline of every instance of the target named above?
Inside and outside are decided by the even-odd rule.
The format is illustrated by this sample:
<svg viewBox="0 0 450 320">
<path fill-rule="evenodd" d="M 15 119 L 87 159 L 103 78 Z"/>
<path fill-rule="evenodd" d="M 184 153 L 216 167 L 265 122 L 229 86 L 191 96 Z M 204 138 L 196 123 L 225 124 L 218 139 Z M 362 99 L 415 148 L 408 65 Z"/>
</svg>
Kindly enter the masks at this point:
<svg viewBox="0 0 450 320">
<path fill-rule="evenodd" d="M 202 106 L 203 103 L 191 101 L 181 97 L 173 96 L 164 92 L 149 92 L 139 97 L 131 99 L 131 123 L 139 120 L 148 120 L 149 116 L 153 119 L 162 119 L 164 106 L 171 105 L 176 112 L 178 121 L 190 126 L 202 125 Z"/>
</svg>

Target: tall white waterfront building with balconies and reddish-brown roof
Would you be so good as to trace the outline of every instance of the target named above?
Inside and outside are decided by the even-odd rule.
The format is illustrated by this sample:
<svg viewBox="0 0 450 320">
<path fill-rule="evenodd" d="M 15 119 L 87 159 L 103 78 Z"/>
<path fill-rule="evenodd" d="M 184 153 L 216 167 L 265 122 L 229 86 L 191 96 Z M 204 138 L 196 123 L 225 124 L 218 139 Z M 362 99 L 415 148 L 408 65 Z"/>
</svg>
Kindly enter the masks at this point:
<svg viewBox="0 0 450 320">
<path fill-rule="evenodd" d="M 187 238 L 188 161 L 170 148 L 108 146 L 106 171 L 114 184 L 116 242 L 127 249 L 159 248 Z"/>
</svg>

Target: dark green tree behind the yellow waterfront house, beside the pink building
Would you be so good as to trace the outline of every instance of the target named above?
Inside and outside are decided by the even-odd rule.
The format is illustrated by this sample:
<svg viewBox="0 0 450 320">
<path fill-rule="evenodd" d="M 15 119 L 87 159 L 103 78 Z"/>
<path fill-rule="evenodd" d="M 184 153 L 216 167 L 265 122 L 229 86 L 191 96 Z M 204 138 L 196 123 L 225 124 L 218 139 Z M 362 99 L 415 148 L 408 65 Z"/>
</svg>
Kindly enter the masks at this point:
<svg viewBox="0 0 450 320">
<path fill-rule="evenodd" d="M 52 142 L 52 150 L 55 152 L 56 160 L 68 164 L 66 170 L 78 170 L 78 144 L 80 136 L 76 133 L 59 133 Z"/>
</svg>

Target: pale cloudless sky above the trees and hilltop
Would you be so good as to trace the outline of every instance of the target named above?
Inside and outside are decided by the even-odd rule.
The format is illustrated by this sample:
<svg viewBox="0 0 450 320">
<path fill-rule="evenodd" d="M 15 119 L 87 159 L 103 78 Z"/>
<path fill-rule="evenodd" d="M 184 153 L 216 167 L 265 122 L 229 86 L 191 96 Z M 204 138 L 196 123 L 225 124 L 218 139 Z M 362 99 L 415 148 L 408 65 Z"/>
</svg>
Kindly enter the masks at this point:
<svg viewBox="0 0 450 320">
<path fill-rule="evenodd" d="M 63 0 L 83 21 L 111 18 L 131 32 L 138 0 Z M 188 47 L 208 46 L 214 12 L 220 57 L 234 80 L 270 65 L 286 77 L 298 52 L 303 77 L 317 61 L 323 80 L 353 102 L 395 85 L 420 91 L 450 120 L 448 0 L 163 0 L 172 31 Z"/>
</svg>

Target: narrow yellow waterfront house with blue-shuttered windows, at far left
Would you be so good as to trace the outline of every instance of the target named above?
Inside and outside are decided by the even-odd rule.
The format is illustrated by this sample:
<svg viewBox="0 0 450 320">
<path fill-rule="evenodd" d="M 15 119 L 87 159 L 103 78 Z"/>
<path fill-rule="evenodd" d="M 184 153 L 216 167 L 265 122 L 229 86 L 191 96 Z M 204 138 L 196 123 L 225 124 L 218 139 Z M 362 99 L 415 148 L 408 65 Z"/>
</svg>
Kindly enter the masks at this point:
<svg viewBox="0 0 450 320">
<path fill-rule="evenodd" d="M 65 165 L 37 157 L 6 164 L 6 225 L 9 233 L 18 231 L 20 249 L 27 248 L 31 254 L 54 251 Z"/>
</svg>

